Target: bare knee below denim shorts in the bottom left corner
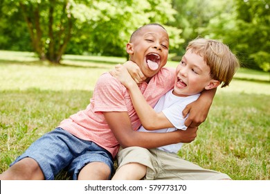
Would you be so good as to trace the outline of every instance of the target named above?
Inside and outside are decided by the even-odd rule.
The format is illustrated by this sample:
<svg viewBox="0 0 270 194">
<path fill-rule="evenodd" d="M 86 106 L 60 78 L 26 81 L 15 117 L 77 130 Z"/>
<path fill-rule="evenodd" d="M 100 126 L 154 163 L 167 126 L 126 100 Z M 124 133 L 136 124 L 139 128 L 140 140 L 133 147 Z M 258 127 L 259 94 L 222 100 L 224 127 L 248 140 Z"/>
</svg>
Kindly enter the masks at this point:
<svg viewBox="0 0 270 194">
<path fill-rule="evenodd" d="M 26 157 L 0 175 L 1 180 L 42 180 L 42 169 L 35 159 Z"/>
</svg>

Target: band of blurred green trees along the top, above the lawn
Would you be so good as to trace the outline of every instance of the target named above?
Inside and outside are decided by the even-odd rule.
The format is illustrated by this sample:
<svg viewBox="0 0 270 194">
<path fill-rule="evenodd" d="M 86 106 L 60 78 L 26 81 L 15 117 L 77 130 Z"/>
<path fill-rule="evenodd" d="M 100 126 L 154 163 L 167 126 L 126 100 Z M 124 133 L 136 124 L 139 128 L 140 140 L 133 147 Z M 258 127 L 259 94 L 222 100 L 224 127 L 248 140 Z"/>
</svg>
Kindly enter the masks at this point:
<svg viewBox="0 0 270 194">
<path fill-rule="evenodd" d="M 242 67 L 270 71 L 269 0 L 0 0 L 0 50 L 31 51 L 60 63 L 62 55 L 126 56 L 131 33 L 165 26 L 170 58 L 190 39 L 228 44 Z"/>
</svg>

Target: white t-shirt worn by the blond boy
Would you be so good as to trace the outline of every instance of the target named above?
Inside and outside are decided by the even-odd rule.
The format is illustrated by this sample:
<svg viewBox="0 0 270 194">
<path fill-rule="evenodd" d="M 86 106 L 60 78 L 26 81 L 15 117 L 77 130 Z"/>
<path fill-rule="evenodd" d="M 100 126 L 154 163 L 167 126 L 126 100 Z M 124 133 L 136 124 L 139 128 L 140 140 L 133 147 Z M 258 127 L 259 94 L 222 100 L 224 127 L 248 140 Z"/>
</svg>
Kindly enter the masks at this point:
<svg viewBox="0 0 270 194">
<path fill-rule="evenodd" d="M 174 125 L 174 127 L 162 129 L 162 130 L 145 130 L 143 125 L 138 129 L 140 132 L 173 132 L 177 129 L 179 130 L 186 130 L 187 127 L 184 124 L 186 121 L 186 118 L 183 118 L 182 111 L 186 107 L 186 105 L 192 103 L 193 101 L 197 100 L 199 98 L 200 94 L 187 96 L 187 97 L 181 97 L 181 96 L 175 96 L 172 94 L 172 90 L 168 91 L 166 94 L 164 94 L 156 103 L 154 106 L 155 112 L 163 112 L 165 116 L 168 118 L 168 120 Z M 162 147 L 159 147 L 159 150 L 163 150 L 165 152 L 175 152 L 177 153 L 183 143 L 175 143 L 170 145 L 165 145 Z"/>
</svg>

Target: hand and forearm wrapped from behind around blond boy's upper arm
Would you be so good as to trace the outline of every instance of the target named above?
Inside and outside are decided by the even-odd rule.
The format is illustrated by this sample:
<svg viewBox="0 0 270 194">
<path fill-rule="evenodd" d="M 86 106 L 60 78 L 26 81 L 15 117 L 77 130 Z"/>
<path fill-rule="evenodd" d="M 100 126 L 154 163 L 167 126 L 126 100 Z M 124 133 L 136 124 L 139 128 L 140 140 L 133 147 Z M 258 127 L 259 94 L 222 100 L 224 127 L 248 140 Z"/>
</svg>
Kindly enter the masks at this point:
<svg viewBox="0 0 270 194">
<path fill-rule="evenodd" d="M 212 105 L 213 98 L 217 89 L 204 90 L 201 92 L 201 96 L 183 109 L 183 117 L 188 115 L 185 121 L 185 125 L 188 127 L 198 127 L 206 121 L 210 106 Z"/>
</svg>

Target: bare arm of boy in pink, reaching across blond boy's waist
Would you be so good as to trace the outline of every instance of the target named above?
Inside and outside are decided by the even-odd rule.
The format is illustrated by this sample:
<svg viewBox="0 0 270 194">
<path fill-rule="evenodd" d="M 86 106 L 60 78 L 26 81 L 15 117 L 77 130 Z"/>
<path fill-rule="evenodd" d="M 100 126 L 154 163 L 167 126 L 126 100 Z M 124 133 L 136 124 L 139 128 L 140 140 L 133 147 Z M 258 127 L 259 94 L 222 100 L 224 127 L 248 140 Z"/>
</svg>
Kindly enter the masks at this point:
<svg viewBox="0 0 270 194">
<path fill-rule="evenodd" d="M 177 130 L 166 133 L 136 132 L 132 130 L 127 112 L 103 112 L 103 114 L 111 131 L 123 148 L 141 146 L 150 149 L 172 143 L 189 143 L 197 136 L 197 127 L 186 131 Z"/>
</svg>

